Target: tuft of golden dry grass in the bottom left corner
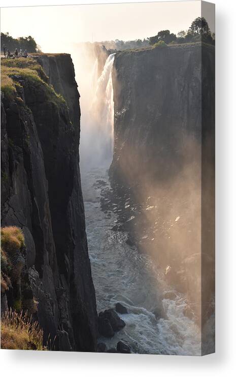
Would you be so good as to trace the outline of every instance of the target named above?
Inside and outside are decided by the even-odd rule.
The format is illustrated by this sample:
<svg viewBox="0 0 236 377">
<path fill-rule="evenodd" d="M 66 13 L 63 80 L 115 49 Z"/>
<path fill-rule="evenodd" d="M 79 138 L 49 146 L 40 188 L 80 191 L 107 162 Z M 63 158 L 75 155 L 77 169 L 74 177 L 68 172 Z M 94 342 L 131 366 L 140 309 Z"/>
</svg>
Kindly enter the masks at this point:
<svg viewBox="0 0 236 377">
<path fill-rule="evenodd" d="M 32 318 L 10 309 L 1 320 L 1 348 L 5 350 L 46 351 L 43 330 Z"/>
</svg>

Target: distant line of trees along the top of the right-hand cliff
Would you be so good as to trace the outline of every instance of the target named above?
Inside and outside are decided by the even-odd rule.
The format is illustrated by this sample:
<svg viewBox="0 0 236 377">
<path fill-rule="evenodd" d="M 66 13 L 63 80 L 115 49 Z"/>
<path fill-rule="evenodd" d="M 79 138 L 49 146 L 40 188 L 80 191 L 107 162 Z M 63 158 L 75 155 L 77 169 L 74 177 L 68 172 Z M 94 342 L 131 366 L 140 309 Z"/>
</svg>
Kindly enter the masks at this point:
<svg viewBox="0 0 236 377">
<path fill-rule="evenodd" d="M 189 42 L 205 42 L 214 45 L 215 34 L 211 33 L 208 22 L 204 17 L 197 17 L 190 25 L 188 30 L 181 30 L 177 35 L 170 30 L 160 30 L 157 35 L 146 39 L 136 39 L 134 41 L 103 41 L 99 44 L 104 45 L 108 50 L 129 50 L 153 46 L 163 41 L 165 44 L 179 44 Z"/>
</svg>

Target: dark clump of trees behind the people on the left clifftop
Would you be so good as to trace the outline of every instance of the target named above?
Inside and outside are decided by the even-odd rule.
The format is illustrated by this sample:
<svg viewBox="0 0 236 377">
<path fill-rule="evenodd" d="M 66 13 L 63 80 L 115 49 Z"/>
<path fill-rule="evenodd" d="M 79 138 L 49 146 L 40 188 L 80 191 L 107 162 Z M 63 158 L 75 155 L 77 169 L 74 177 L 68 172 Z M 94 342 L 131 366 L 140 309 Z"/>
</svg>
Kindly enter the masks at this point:
<svg viewBox="0 0 236 377">
<path fill-rule="evenodd" d="M 19 37 L 17 39 L 12 38 L 9 33 L 1 33 L 1 51 L 3 51 L 3 46 L 5 45 L 6 51 L 9 49 L 10 52 L 14 52 L 17 48 L 18 51 L 21 48 L 23 51 L 37 52 L 39 51 L 39 46 L 37 45 L 35 39 L 31 36 Z"/>
</svg>

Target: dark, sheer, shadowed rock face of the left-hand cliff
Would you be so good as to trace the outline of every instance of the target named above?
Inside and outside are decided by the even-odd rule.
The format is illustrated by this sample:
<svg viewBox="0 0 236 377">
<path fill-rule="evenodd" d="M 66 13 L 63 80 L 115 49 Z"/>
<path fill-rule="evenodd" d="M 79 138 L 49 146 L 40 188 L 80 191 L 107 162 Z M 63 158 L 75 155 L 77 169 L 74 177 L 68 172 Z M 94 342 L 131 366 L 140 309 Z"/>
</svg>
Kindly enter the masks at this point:
<svg viewBox="0 0 236 377">
<path fill-rule="evenodd" d="M 79 170 L 80 107 L 68 54 L 39 55 L 57 93 L 15 78 L 3 98 L 2 226 L 22 228 L 27 273 L 45 339 L 58 350 L 95 351 L 97 313 Z"/>
</svg>

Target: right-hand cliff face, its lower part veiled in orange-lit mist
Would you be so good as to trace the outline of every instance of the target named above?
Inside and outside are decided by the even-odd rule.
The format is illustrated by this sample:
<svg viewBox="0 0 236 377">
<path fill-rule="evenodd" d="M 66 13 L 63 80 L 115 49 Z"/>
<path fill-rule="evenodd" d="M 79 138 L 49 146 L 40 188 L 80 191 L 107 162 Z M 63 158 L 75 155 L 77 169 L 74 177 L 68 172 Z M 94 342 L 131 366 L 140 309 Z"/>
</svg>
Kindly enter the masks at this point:
<svg viewBox="0 0 236 377">
<path fill-rule="evenodd" d="M 214 54 L 200 44 L 124 51 L 113 68 L 110 177 L 124 227 L 198 322 L 214 291 Z"/>
</svg>

